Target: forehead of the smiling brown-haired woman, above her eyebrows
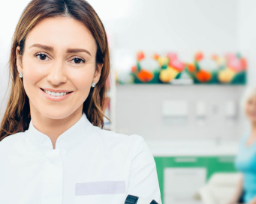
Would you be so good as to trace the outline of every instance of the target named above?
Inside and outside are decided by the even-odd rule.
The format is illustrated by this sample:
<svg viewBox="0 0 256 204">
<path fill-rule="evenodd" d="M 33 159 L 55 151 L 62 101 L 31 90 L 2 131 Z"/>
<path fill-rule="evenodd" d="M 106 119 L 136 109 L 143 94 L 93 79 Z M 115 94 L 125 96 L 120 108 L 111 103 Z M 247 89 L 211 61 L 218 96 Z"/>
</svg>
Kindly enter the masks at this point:
<svg viewBox="0 0 256 204">
<path fill-rule="evenodd" d="M 53 46 L 55 50 L 83 48 L 95 53 L 97 49 L 94 37 L 83 22 L 62 16 L 38 22 L 26 37 L 26 47 L 34 43 Z"/>
</svg>

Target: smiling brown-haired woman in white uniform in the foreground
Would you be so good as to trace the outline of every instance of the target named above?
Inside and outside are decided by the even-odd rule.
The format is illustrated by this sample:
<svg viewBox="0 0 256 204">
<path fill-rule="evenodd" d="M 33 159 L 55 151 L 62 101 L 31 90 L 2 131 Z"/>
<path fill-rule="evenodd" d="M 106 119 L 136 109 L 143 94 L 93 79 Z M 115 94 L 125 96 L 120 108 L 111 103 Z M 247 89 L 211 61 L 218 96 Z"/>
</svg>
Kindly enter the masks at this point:
<svg viewBox="0 0 256 204">
<path fill-rule="evenodd" d="M 161 203 L 143 137 L 101 129 L 107 36 L 83 0 L 33 0 L 11 48 L 11 96 L 0 131 L 0 203 Z"/>
</svg>

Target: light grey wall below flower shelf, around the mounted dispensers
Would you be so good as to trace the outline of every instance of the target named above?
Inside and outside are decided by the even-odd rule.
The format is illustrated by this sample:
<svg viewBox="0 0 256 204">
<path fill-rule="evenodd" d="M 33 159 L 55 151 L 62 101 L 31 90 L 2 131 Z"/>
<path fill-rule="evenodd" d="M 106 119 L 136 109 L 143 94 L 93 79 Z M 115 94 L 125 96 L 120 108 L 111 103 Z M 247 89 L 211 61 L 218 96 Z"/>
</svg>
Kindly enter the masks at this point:
<svg viewBox="0 0 256 204">
<path fill-rule="evenodd" d="M 116 99 L 116 131 L 126 135 L 142 135 L 146 140 L 238 140 L 245 132 L 240 110 L 244 87 L 220 85 L 118 86 Z M 165 101 L 187 103 L 187 117 L 164 117 Z M 196 104 L 204 102 L 206 117 L 197 120 Z M 236 117 L 226 116 L 227 104 L 236 104 Z"/>
</svg>

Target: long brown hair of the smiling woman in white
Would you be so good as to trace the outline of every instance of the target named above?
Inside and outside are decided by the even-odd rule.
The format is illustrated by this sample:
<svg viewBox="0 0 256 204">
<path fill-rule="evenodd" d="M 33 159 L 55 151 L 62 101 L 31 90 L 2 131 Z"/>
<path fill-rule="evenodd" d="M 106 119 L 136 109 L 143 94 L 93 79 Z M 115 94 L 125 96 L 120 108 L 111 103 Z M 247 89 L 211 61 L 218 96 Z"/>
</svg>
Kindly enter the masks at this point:
<svg viewBox="0 0 256 204">
<path fill-rule="evenodd" d="M 107 34 L 101 19 L 92 6 L 84 0 L 32 0 L 27 5 L 14 32 L 9 61 L 11 95 L 0 128 L 0 140 L 29 128 L 31 120 L 29 98 L 17 70 L 16 49 L 20 46 L 23 55 L 26 36 L 42 19 L 55 16 L 68 16 L 83 22 L 91 31 L 97 43 L 96 64 L 103 64 L 101 78 L 96 87 L 90 90 L 83 102 L 83 112 L 94 126 L 104 127 L 104 106 L 106 81 L 110 73 L 110 54 Z M 96 65 L 96 68 L 98 66 Z"/>
</svg>

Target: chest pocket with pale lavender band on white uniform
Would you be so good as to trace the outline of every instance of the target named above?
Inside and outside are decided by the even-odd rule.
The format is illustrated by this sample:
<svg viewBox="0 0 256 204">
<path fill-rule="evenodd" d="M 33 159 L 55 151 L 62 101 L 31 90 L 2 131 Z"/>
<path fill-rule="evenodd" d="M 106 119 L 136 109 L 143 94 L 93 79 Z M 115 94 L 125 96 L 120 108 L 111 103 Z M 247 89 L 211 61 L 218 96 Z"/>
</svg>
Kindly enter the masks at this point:
<svg viewBox="0 0 256 204">
<path fill-rule="evenodd" d="M 125 203 L 125 181 L 101 181 L 77 183 L 75 203 Z"/>
</svg>

